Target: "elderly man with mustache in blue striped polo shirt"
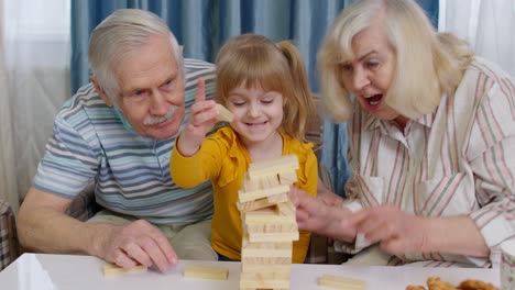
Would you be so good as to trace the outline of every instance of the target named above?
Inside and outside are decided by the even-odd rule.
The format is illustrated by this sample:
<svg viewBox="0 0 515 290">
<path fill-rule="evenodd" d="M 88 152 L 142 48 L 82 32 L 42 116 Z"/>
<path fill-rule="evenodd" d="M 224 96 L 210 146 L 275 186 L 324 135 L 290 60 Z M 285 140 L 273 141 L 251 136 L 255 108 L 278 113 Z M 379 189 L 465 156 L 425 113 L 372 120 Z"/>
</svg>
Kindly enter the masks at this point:
<svg viewBox="0 0 515 290">
<path fill-rule="evenodd" d="M 209 96 L 215 67 L 183 59 L 168 26 L 133 9 L 116 11 L 95 29 L 89 65 L 92 83 L 58 112 L 20 209 L 21 244 L 162 271 L 177 258 L 217 259 L 210 246 L 210 185 L 179 189 L 168 171 L 198 78 Z M 198 83 L 201 93 L 204 81 Z M 88 222 L 66 215 L 91 183 L 105 210 Z"/>
</svg>

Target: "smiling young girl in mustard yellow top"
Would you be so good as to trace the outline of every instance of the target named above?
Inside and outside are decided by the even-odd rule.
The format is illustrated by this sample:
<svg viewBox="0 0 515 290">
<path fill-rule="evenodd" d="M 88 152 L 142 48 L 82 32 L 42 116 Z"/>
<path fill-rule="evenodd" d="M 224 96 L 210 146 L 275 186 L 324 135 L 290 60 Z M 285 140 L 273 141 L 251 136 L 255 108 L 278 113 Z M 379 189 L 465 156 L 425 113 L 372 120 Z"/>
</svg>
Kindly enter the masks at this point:
<svg viewBox="0 0 515 290">
<path fill-rule="evenodd" d="M 296 154 L 296 186 L 316 196 L 317 159 L 304 143 L 306 122 L 315 114 L 302 56 L 289 42 L 277 45 L 253 34 L 229 40 L 217 57 L 216 98 L 234 115 L 230 126 L 206 138 L 217 123 L 213 101 L 199 81 L 188 125 L 172 153 L 171 174 L 189 188 L 211 179 L 215 214 L 211 245 L 222 260 L 241 259 L 242 226 L 237 208 L 249 164 Z M 294 242 L 293 261 L 304 263 L 309 232 Z"/>
</svg>

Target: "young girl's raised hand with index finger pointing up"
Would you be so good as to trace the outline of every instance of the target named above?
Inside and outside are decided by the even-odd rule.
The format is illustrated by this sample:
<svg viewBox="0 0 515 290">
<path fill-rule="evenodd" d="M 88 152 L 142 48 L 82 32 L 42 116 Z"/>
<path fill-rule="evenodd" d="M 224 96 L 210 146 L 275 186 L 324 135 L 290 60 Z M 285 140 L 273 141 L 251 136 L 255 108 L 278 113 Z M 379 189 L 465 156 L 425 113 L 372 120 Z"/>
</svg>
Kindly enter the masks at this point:
<svg viewBox="0 0 515 290">
<path fill-rule="evenodd" d="M 191 156 L 197 153 L 200 144 L 206 138 L 206 134 L 217 123 L 218 110 L 215 101 L 206 100 L 205 86 L 205 80 L 199 78 L 188 124 L 177 141 L 177 148 L 184 156 Z"/>
</svg>

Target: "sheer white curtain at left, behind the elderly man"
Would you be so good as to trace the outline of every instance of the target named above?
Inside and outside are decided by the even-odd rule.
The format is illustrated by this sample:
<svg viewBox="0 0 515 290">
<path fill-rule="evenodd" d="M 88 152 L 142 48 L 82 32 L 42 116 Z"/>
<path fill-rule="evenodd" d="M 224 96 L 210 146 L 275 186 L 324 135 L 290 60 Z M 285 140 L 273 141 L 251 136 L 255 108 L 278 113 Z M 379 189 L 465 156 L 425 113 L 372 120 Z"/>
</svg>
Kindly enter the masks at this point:
<svg viewBox="0 0 515 290">
<path fill-rule="evenodd" d="M 18 212 L 55 113 L 69 98 L 69 2 L 0 4 L 0 196 Z"/>
</svg>

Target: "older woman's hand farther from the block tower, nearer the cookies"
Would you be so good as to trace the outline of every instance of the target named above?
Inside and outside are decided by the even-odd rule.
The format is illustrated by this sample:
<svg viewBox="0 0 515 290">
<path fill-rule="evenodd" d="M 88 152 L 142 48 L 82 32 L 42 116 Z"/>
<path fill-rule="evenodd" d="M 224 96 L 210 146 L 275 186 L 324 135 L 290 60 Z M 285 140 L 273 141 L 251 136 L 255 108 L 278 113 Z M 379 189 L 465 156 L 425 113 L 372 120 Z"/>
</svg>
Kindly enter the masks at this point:
<svg viewBox="0 0 515 290">
<path fill-rule="evenodd" d="M 363 209 L 352 214 L 349 222 L 369 242 L 379 242 L 388 254 L 424 253 L 426 248 L 427 220 L 403 212 L 395 205 Z"/>
</svg>

